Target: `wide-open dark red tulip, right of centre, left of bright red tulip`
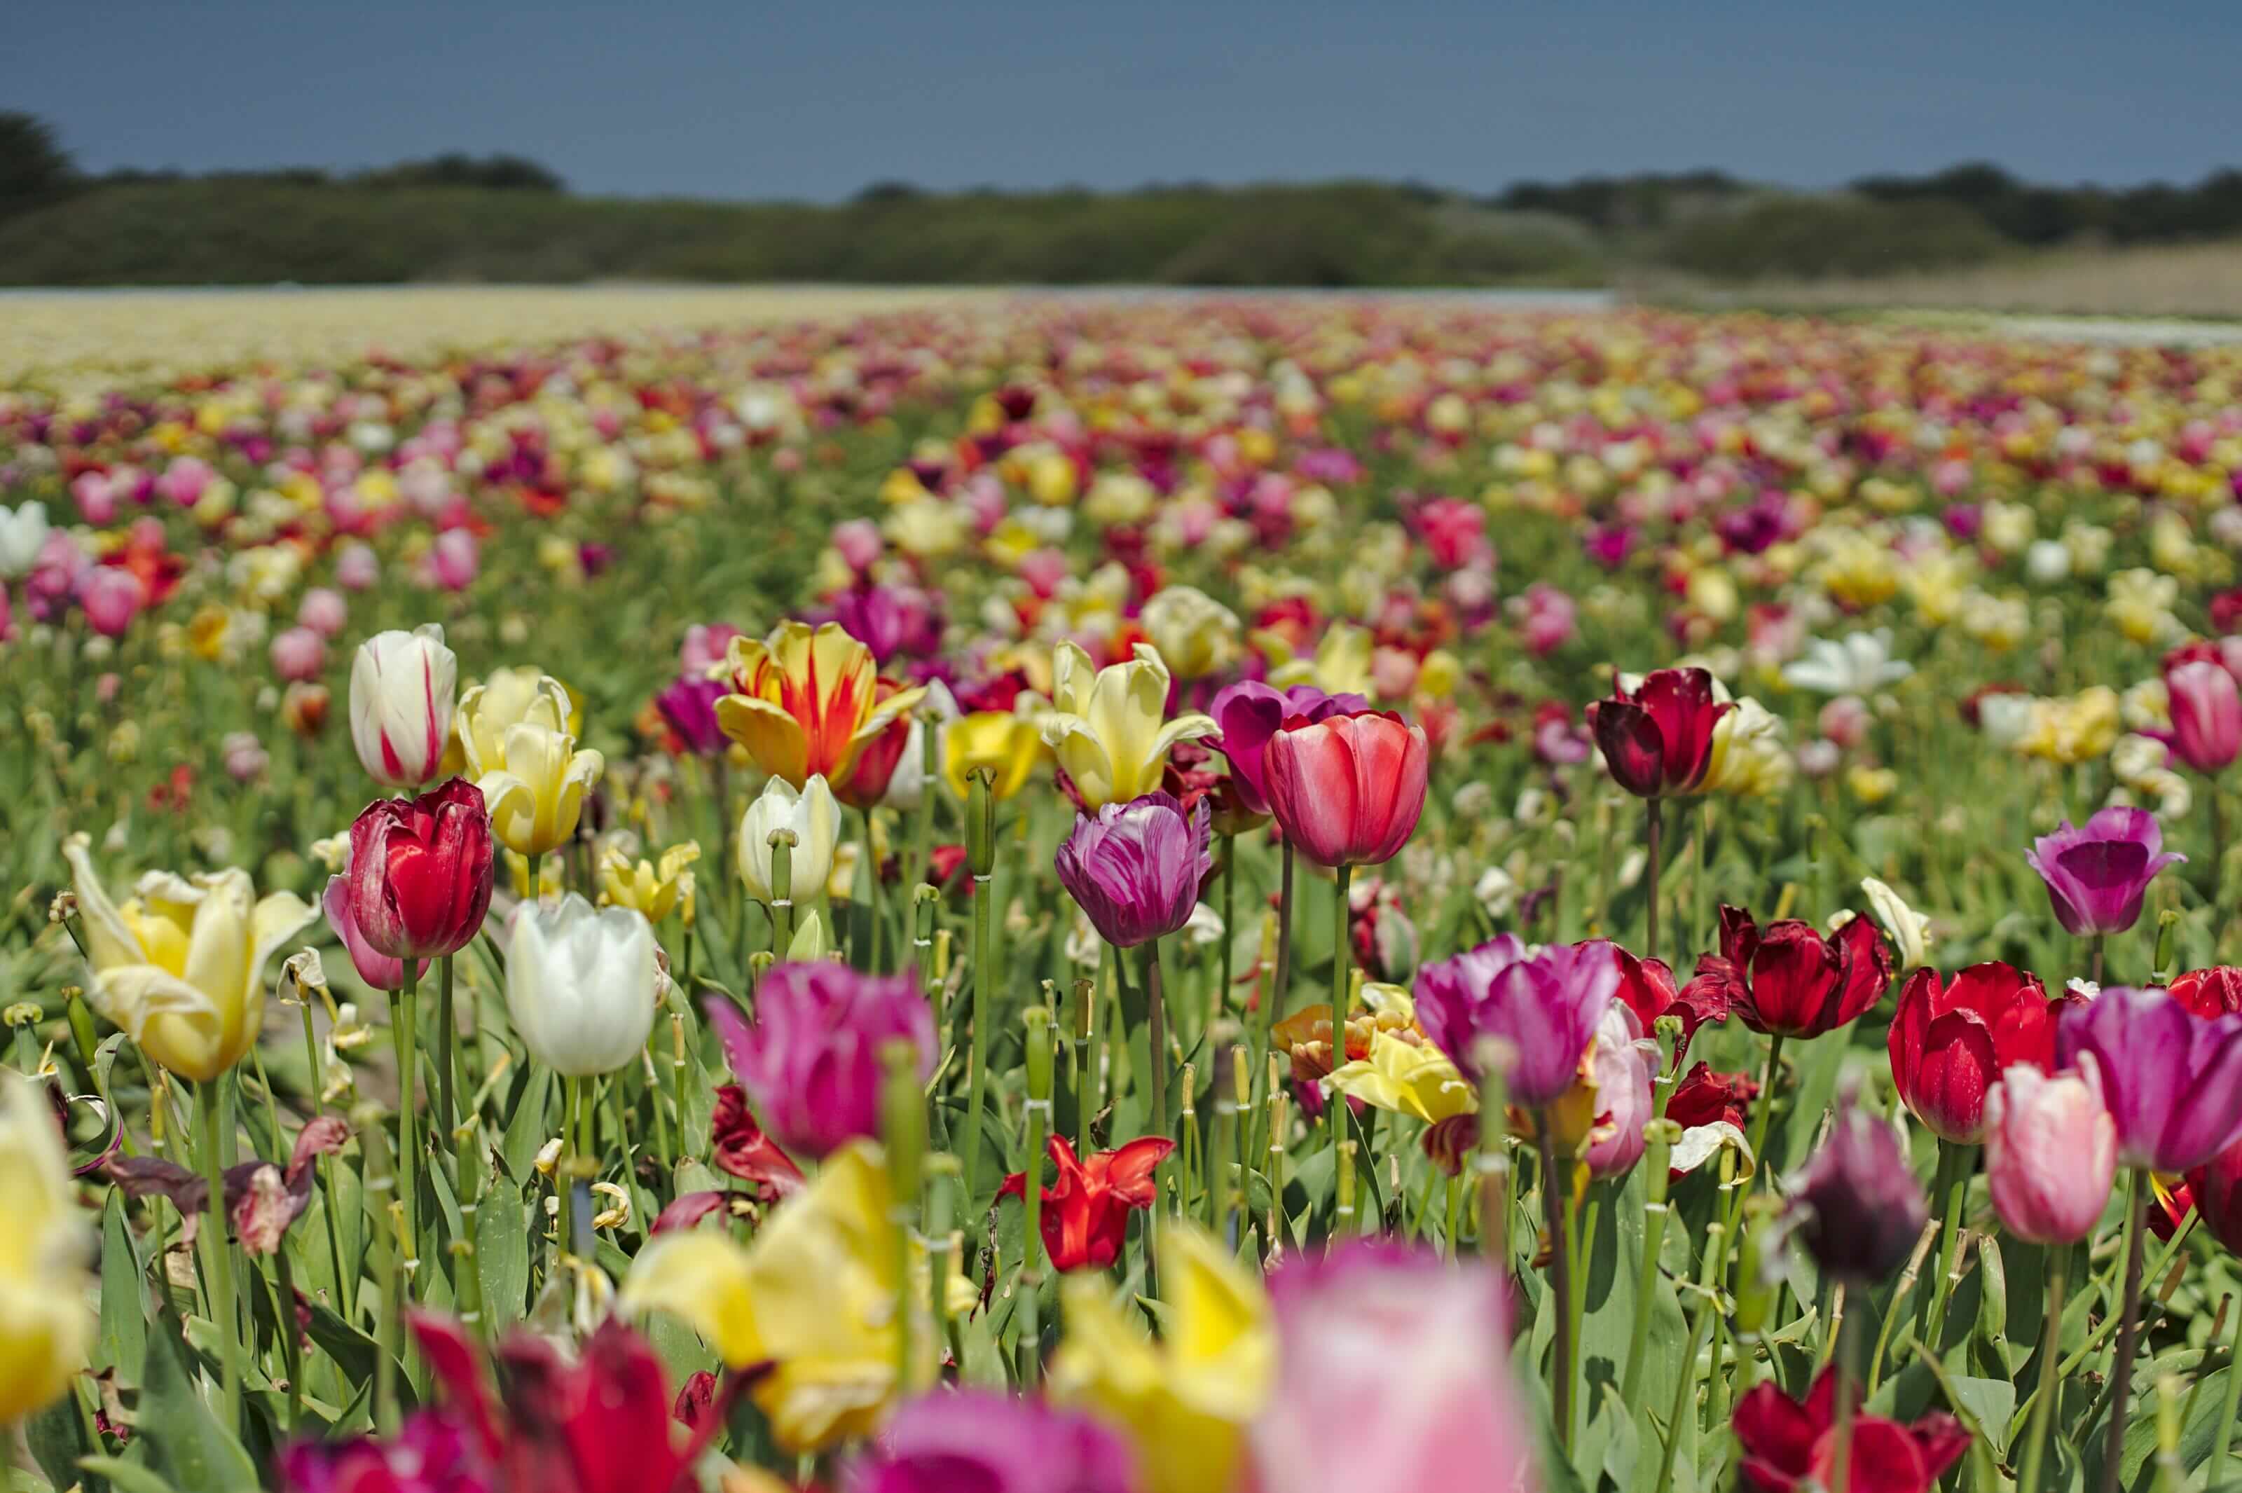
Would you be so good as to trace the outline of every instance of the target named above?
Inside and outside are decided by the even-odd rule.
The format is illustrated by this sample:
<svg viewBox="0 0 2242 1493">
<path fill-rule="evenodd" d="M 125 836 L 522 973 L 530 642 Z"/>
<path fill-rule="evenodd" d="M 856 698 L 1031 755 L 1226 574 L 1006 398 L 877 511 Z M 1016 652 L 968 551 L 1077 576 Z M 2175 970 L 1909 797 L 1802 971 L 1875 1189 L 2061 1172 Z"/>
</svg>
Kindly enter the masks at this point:
<svg viewBox="0 0 2242 1493">
<path fill-rule="evenodd" d="M 1724 1000 L 1753 1031 L 1814 1038 L 1874 1007 L 1890 982 L 1892 946 L 1874 919 L 1852 917 L 1823 937 L 1794 917 L 1762 930 L 1751 912 L 1724 906 L 1720 953 L 1697 959 L 1682 995 Z"/>
</svg>

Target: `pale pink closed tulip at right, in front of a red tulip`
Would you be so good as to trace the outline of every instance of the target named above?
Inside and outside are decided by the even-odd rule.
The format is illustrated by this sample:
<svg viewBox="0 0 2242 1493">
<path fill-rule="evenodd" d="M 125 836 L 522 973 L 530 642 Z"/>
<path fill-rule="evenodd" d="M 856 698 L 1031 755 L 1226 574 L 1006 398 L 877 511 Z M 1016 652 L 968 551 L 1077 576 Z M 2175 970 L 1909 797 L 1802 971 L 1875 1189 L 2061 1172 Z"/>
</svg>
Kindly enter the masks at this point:
<svg viewBox="0 0 2242 1493">
<path fill-rule="evenodd" d="M 2076 1072 L 2009 1067 L 1984 1098 L 1984 1175 L 2002 1226 L 2029 1244 L 2094 1233 L 2116 1179 L 2116 1121 L 2094 1054 Z"/>
</svg>

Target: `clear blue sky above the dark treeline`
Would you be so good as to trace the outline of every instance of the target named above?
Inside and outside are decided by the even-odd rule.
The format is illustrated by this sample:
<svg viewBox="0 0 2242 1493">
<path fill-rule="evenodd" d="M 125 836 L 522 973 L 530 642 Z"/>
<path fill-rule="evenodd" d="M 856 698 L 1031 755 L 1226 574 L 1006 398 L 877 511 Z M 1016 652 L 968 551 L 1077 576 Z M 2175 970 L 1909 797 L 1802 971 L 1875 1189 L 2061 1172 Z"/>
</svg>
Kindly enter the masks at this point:
<svg viewBox="0 0 2242 1493">
<path fill-rule="evenodd" d="M 16 0 L 0 108 L 87 168 L 511 150 L 590 193 L 1520 177 L 1829 186 L 2242 161 L 2231 4 Z"/>
</svg>

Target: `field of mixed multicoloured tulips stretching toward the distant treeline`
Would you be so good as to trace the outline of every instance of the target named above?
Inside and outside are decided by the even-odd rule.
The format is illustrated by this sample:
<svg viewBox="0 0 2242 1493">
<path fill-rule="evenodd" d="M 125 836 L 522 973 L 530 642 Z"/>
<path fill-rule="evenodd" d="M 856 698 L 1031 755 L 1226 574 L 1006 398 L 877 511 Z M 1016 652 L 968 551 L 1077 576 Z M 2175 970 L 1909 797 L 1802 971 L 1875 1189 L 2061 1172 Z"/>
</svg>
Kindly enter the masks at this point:
<svg viewBox="0 0 2242 1493">
<path fill-rule="evenodd" d="M 675 312 L 0 386 L 11 1489 L 2242 1482 L 2242 350 Z"/>
</svg>

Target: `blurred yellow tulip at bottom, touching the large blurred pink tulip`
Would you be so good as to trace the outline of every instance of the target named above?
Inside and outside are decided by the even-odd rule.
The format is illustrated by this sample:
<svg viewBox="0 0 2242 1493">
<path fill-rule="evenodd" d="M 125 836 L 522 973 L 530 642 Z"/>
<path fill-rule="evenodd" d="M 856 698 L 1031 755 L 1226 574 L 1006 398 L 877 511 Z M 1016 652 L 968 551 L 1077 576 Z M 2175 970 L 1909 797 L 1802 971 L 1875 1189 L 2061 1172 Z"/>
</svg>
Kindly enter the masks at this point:
<svg viewBox="0 0 2242 1493">
<path fill-rule="evenodd" d="M 1051 1394 L 1134 1439 L 1148 1493 L 1224 1493 L 1238 1482 L 1247 1426 L 1276 1376 L 1269 1296 L 1188 1224 L 1161 1228 L 1159 1280 L 1168 1332 L 1155 1345 L 1101 1276 L 1067 1278 L 1067 1336 L 1051 1358 Z"/>
</svg>

